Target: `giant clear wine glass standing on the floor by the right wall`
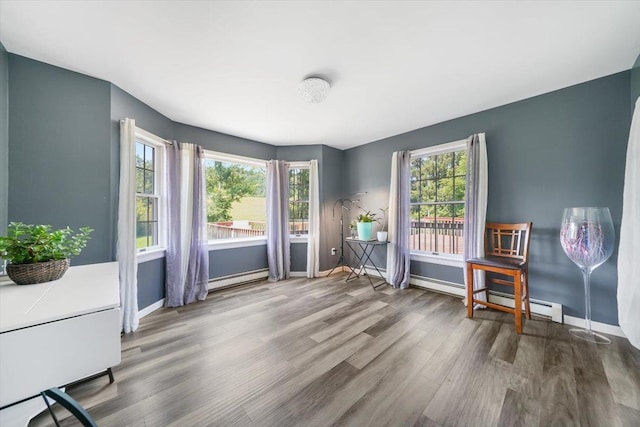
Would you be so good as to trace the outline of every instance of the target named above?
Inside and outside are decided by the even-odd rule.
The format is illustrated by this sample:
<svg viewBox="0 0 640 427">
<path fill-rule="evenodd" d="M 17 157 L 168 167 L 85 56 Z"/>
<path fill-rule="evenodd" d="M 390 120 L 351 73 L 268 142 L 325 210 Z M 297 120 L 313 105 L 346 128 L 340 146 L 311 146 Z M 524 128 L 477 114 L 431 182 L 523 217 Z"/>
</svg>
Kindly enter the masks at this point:
<svg viewBox="0 0 640 427">
<path fill-rule="evenodd" d="M 581 339 L 598 344 L 611 341 L 591 330 L 591 272 L 613 253 L 615 232 L 609 208 L 566 208 L 560 227 L 560 243 L 564 253 L 582 271 L 584 281 L 585 329 L 570 329 Z"/>
</svg>

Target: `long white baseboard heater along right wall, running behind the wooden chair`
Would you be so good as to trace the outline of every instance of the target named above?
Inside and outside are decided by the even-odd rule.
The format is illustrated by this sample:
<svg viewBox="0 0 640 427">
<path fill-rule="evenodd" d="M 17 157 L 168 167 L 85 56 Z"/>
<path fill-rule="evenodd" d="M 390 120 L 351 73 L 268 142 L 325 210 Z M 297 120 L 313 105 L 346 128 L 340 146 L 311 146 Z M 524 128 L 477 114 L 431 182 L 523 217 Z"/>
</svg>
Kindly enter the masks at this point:
<svg viewBox="0 0 640 427">
<path fill-rule="evenodd" d="M 365 266 L 363 269 L 365 274 L 382 277 L 373 267 Z M 379 270 L 383 274 L 386 273 L 385 269 L 380 268 Z M 443 280 L 411 275 L 409 284 L 417 288 L 429 289 L 431 291 L 441 292 L 460 298 L 464 298 L 466 296 L 464 285 L 461 285 L 459 283 L 445 282 Z M 507 307 L 515 307 L 513 295 L 498 291 L 489 291 L 489 302 L 504 305 Z M 529 299 L 529 304 L 531 306 L 532 314 L 548 318 L 556 323 L 563 323 L 562 304 L 537 300 L 533 298 Z"/>
</svg>

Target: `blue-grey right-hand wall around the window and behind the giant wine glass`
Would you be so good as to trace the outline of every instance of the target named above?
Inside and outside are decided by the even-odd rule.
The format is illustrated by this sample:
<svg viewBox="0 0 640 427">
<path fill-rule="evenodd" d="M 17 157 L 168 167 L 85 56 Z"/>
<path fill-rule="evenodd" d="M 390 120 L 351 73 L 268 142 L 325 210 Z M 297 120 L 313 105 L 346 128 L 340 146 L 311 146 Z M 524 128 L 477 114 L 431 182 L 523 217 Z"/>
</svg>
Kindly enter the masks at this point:
<svg viewBox="0 0 640 427">
<path fill-rule="evenodd" d="M 487 218 L 533 221 L 531 297 L 560 302 L 565 314 L 582 317 L 581 275 L 560 247 L 560 219 L 565 207 L 608 206 L 619 231 L 629 87 L 626 71 L 356 147 L 345 152 L 345 181 L 351 191 L 369 191 L 368 206 L 386 206 L 393 151 L 485 132 Z M 617 324 L 615 266 L 616 253 L 592 276 L 592 318 L 609 324 Z M 459 269 L 426 264 L 419 271 L 462 280 Z"/>
</svg>

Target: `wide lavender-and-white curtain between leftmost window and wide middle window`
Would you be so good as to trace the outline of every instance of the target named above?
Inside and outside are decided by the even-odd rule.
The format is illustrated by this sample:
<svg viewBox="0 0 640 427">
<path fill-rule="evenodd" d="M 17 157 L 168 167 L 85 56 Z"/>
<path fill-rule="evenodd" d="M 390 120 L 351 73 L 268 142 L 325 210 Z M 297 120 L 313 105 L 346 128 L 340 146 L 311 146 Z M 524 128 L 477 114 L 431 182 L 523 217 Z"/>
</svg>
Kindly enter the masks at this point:
<svg viewBox="0 0 640 427">
<path fill-rule="evenodd" d="M 209 252 L 206 238 L 204 150 L 174 142 L 167 150 L 167 307 L 207 297 Z"/>
</svg>

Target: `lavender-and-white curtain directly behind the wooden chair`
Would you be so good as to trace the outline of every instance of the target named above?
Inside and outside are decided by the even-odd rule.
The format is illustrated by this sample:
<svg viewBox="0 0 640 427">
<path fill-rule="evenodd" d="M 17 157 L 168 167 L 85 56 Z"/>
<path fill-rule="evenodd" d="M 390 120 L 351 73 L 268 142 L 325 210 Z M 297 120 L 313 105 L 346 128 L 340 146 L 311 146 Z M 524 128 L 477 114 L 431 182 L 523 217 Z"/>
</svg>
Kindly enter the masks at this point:
<svg viewBox="0 0 640 427">
<path fill-rule="evenodd" d="M 467 139 L 467 181 L 464 193 L 464 259 L 484 256 L 484 228 L 487 217 L 488 193 L 487 144 L 484 133 L 471 135 Z M 467 263 L 464 263 L 464 280 L 467 282 Z M 474 272 L 473 288 L 484 288 L 483 271 Z M 485 300 L 484 292 L 476 294 Z M 465 305 L 467 301 L 465 299 Z"/>
</svg>

